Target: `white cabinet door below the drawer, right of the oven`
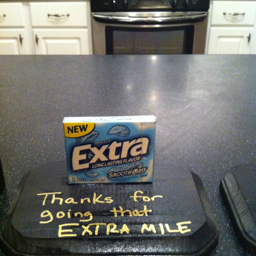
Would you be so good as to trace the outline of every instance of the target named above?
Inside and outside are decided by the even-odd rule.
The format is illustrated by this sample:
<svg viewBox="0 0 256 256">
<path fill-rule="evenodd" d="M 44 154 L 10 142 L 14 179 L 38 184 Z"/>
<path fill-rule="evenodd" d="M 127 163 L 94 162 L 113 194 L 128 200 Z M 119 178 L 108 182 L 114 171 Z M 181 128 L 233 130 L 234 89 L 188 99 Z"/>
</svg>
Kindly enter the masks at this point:
<svg viewBox="0 0 256 256">
<path fill-rule="evenodd" d="M 253 28 L 210 28 L 208 54 L 249 54 Z"/>
</svg>

